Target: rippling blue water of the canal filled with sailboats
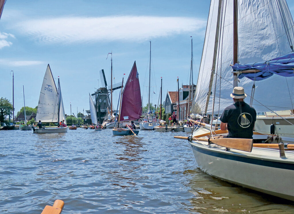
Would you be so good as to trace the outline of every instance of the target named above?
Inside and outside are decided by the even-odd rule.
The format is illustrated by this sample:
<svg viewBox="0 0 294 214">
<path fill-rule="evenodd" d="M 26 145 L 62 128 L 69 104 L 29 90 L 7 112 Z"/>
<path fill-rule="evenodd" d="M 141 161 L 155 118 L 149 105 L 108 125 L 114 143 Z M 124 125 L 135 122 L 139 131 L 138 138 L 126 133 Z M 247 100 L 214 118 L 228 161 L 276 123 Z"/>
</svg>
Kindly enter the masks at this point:
<svg viewBox="0 0 294 214">
<path fill-rule="evenodd" d="M 176 135 L 188 136 L 0 131 L 0 213 L 41 213 L 56 199 L 63 214 L 293 213 L 293 202 L 203 173 Z"/>
</svg>

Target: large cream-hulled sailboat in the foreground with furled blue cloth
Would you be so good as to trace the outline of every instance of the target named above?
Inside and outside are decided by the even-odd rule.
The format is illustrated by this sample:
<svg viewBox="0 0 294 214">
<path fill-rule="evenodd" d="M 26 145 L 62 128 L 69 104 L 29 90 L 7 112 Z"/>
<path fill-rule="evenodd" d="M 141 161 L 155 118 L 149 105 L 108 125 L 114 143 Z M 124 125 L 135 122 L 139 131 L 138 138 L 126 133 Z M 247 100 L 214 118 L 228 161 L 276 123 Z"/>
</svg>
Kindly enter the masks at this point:
<svg viewBox="0 0 294 214">
<path fill-rule="evenodd" d="M 232 104 L 230 93 L 237 85 L 245 89 L 257 112 L 292 108 L 293 74 L 291 77 L 286 75 L 287 71 L 282 74 L 279 69 L 272 69 L 272 63 L 280 58 L 286 62 L 280 61 L 276 66 L 293 62 L 293 26 L 285 0 L 238 3 L 212 0 L 192 113 L 220 115 Z M 258 68 L 260 73 L 252 62 L 263 62 L 257 64 L 265 69 Z M 241 78 L 246 76 L 241 69 L 246 63 L 251 64 L 247 73 L 253 80 Z M 293 73 L 294 66 L 290 64 L 288 74 Z M 278 73 L 280 75 L 276 75 Z M 263 78 L 267 74 L 267 78 Z M 245 118 L 243 122 L 246 123 Z M 189 144 L 197 166 L 204 172 L 246 188 L 294 200 L 294 192 L 289 188 L 294 176 L 294 152 L 285 151 L 291 144 L 284 144 L 284 140 L 278 141 L 279 144 L 253 144 L 252 139 L 219 138 L 213 130 L 209 138 L 207 133 L 201 135 L 198 130 L 192 136 L 188 137 Z M 271 138 L 253 132 L 253 139 Z"/>
</svg>

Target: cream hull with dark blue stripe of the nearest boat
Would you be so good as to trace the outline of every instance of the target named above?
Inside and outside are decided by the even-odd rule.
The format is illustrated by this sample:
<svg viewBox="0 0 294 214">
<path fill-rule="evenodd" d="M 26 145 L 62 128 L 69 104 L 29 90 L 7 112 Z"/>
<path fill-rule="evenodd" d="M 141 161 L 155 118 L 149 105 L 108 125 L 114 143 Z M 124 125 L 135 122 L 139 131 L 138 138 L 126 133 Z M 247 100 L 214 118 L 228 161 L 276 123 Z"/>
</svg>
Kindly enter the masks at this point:
<svg viewBox="0 0 294 214">
<path fill-rule="evenodd" d="M 291 188 L 294 177 L 294 152 L 286 151 L 287 159 L 278 150 L 254 148 L 251 153 L 206 142 L 190 143 L 198 167 L 204 172 L 246 188 L 280 198 L 294 200 Z M 214 145 L 214 144 L 212 144 Z"/>
</svg>

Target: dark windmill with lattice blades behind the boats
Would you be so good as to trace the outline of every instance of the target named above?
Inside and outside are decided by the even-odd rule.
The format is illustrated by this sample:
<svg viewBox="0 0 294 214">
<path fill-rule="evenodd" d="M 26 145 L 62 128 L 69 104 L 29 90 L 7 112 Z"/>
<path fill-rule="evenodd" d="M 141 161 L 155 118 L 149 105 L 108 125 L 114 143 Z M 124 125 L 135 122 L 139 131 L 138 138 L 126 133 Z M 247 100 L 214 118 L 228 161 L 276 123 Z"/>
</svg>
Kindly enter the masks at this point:
<svg viewBox="0 0 294 214">
<path fill-rule="evenodd" d="M 111 112 L 110 98 L 109 92 L 111 92 L 111 85 L 107 86 L 104 70 L 100 70 L 100 79 L 102 83 L 102 87 L 96 90 L 93 94 L 91 94 L 92 99 L 94 100 L 94 105 L 96 107 L 97 118 L 100 124 L 102 124 L 103 120 L 107 117 L 108 113 Z M 116 83 L 112 85 L 112 91 L 116 89 L 120 89 L 122 82 Z M 116 112 L 114 107 L 112 106 L 112 112 Z"/>
</svg>

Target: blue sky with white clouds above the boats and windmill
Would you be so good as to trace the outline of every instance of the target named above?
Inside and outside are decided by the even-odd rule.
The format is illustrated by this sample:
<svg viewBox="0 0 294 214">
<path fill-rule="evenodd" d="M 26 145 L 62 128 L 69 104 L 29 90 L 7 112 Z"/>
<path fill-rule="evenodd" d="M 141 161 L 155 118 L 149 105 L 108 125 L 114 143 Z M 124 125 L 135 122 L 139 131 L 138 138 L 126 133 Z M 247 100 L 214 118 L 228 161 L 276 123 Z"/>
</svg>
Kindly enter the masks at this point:
<svg viewBox="0 0 294 214">
<path fill-rule="evenodd" d="M 287 3 L 293 14 L 294 1 Z M 7 0 L 0 20 L 0 97 L 12 103 L 13 70 L 15 114 L 24 106 L 23 85 L 26 106 L 36 107 L 49 64 L 60 78 L 65 113 L 83 113 L 88 94 L 101 87 L 101 69 L 110 85 L 112 52 L 113 83 L 123 74 L 126 80 L 136 61 L 145 106 L 151 40 L 151 102 L 157 105 L 161 77 L 162 100 L 177 90 L 177 78 L 180 87 L 189 84 L 191 36 L 197 81 L 209 5 L 208 0 Z M 113 92 L 115 109 L 118 95 Z"/>
</svg>

